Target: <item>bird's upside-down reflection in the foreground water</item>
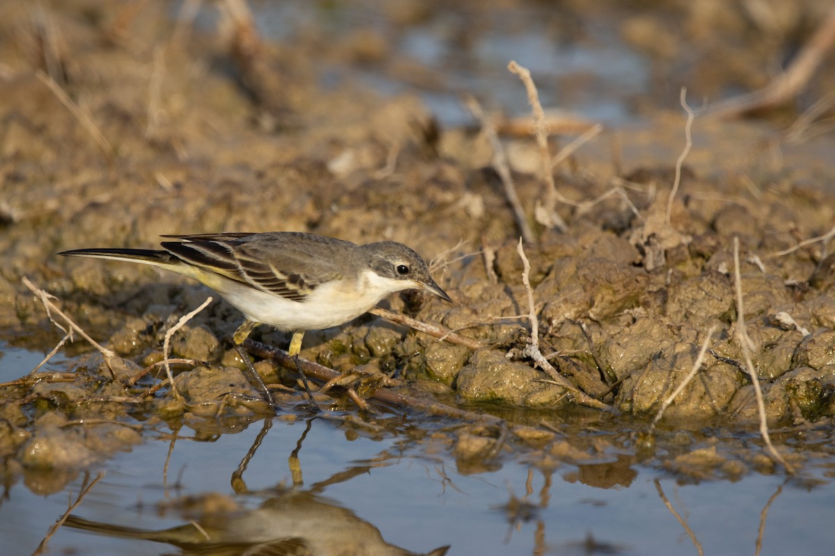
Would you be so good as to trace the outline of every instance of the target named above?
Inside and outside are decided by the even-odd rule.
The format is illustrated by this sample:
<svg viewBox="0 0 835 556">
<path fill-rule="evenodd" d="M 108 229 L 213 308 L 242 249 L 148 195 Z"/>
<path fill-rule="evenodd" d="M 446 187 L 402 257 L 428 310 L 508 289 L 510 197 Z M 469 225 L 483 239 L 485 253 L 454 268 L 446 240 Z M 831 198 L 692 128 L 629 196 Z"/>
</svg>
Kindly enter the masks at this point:
<svg viewBox="0 0 835 556">
<path fill-rule="evenodd" d="M 293 488 L 276 487 L 259 508 L 242 508 L 236 498 L 217 493 L 200 497 L 180 497 L 173 505 L 190 518 L 190 523 L 162 530 L 127 527 L 113 523 L 91 521 L 69 515 L 64 524 L 71 528 L 122 538 L 169 543 L 182 548 L 183 554 L 205 556 L 233 556 L 235 554 L 281 554 L 283 556 L 380 556 L 414 554 L 404 548 L 386 543 L 380 530 L 358 518 L 350 509 L 319 493 L 329 484 L 347 481 L 367 473 L 368 466 L 357 466 L 331 475 L 325 481 L 315 483 L 307 490 L 301 489 L 301 461 L 299 453 L 311 424 L 306 427 L 292 451 L 289 467 Z M 232 473 L 231 483 L 235 493 L 249 493 L 243 475 L 255 457 L 272 419 L 265 419 L 260 433 Z M 167 468 L 167 463 L 166 463 Z M 429 556 L 443 556 L 448 546 L 435 548 Z"/>
</svg>

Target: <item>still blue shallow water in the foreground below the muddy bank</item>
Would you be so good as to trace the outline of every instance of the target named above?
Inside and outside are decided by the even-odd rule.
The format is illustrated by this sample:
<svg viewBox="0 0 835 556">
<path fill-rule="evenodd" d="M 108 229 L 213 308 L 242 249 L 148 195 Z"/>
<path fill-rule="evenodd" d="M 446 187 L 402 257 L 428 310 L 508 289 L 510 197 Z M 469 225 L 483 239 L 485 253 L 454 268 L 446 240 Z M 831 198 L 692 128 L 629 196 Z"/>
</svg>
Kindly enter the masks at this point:
<svg viewBox="0 0 835 556">
<path fill-rule="evenodd" d="M 104 478 L 73 513 L 97 522 L 161 529 L 187 522 L 175 509 L 158 513 L 158 505 L 170 506 L 180 497 L 221 493 L 235 496 L 244 508 L 257 508 L 270 498 L 286 496 L 292 484 L 288 458 L 306 424 L 272 420 L 242 475 L 249 493 L 236 496 L 230 479 L 263 422 L 205 441 L 196 441 L 193 431 L 183 428 L 173 445 L 171 431 L 161 428 L 142 445 L 101 466 Z M 696 553 L 659 488 L 686 519 L 704 553 L 756 553 L 761 527 L 761 554 L 823 554 L 831 549 L 835 489 L 827 475 L 831 477 L 832 461 L 828 473 L 824 469 L 816 473 L 817 480 L 804 484 L 759 473 L 733 482 L 680 483 L 640 464 L 628 468 L 634 476 L 621 469 L 620 479 L 610 482 L 600 480 L 588 466 L 570 464 L 559 465 L 546 477 L 539 468 L 507 454 L 499 468 L 468 474 L 460 472 L 448 453 L 428 450 L 427 441 L 389 434 L 377 439 L 357 436 L 323 419 L 310 424 L 298 453 L 303 484 L 296 491 L 316 493 L 323 497 L 318 503 L 350 509 L 378 528 L 387 543 L 412 551 L 448 544 L 450 554 Z M 94 468 L 89 475 L 79 473 L 66 489 L 48 496 L 20 483 L 10 485 L 0 507 L 3 553 L 31 553 L 67 510 L 68 500 L 75 500 L 83 479 L 98 472 Z M 590 486 L 590 477 L 610 488 Z M 281 530 L 285 522 L 276 518 L 275 523 L 276 536 L 287 533 Z M 300 530 L 296 527 L 291 533 Z M 147 540 L 91 536 L 67 526 L 51 538 L 48 548 L 56 554 L 125 555 L 173 549 Z"/>
</svg>

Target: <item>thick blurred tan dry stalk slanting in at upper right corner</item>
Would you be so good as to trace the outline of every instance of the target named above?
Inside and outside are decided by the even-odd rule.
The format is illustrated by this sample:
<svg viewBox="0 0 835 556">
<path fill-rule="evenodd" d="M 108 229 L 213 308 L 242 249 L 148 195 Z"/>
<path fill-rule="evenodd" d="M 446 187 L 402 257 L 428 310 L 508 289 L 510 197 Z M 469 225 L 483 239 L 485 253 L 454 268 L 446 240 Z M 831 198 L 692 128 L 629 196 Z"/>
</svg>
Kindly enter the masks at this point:
<svg viewBox="0 0 835 556">
<path fill-rule="evenodd" d="M 833 44 L 835 44 L 835 7 L 830 8 L 823 23 L 780 77 L 759 91 L 716 103 L 711 108 L 711 116 L 736 118 L 745 113 L 774 108 L 787 103 L 806 87 L 827 50 L 832 48 Z"/>
</svg>

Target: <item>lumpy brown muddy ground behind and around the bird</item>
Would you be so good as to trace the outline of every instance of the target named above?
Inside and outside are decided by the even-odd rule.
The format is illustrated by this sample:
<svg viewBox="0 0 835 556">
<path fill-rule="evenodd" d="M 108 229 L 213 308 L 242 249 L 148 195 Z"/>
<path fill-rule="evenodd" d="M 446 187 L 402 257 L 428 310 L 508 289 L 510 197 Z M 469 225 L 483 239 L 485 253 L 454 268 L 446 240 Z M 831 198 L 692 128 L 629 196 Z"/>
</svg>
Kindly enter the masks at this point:
<svg viewBox="0 0 835 556">
<path fill-rule="evenodd" d="M 399 25 L 433 9 L 396 5 L 385 17 Z M 806 12 L 787 10 L 774 18 L 800 41 L 821 6 L 802 3 Z M 460 9 L 480 21 L 475 3 Z M 577 10 L 580 17 L 580 6 L 560 9 Z M 682 49 L 693 49 L 705 61 L 674 70 L 698 79 L 696 95 L 724 90 L 730 76 L 737 85 L 761 87 L 767 71 L 755 72 L 751 61 L 774 56 L 778 45 L 752 39 L 754 23 L 734 9 L 701 13 L 665 3 L 658 12 L 627 14 L 622 33 L 653 57 L 658 72 Z M 384 96 L 344 75 L 336 86 L 323 85 L 323 65 L 377 64 L 394 75 L 409 73 L 413 64 L 389 56 L 384 36 L 357 32 L 334 42 L 312 28 L 291 43 L 259 42 L 251 28 L 229 16 L 210 30 L 191 28 L 142 2 L 56 2 L 37 9 L 4 3 L 0 12 L 3 338 L 45 353 L 63 337 L 23 287 L 28 277 L 121 358 L 114 381 L 104 359 L 76 335 L 66 347 L 79 356 L 73 373 L 34 373 L 0 386 L 0 453 L 10 469 L 81 467 L 139 442 L 139 421 L 180 421 L 210 434 L 267 411 L 230 347 L 240 314 L 216 296 L 171 342 L 174 357 L 195 360 L 175 366 L 185 402 L 175 401 L 169 388 L 145 395 L 164 374 L 125 385 L 129 375 L 163 358 L 166 330 L 210 291 L 149 268 L 54 254 L 154 248 L 164 233 L 301 230 L 357 243 L 392 239 L 432 259 L 433 275 L 453 305 L 407 293 L 384 306 L 484 347 L 473 351 L 371 316 L 307 334 L 302 357 L 340 372 L 361 366 L 366 376 L 377 377 L 359 381 L 360 393 L 390 388 L 381 385 L 383 373 L 410 383 L 411 393 L 517 423 L 553 427 L 574 415 L 581 425 L 614 419 L 634 426 L 655 415 L 714 328 L 700 372 L 662 423 L 753 430 L 754 387 L 736 334 L 738 238 L 751 361 L 765 391 L 768 422 L 781 438 L 831 430 L 830 242 L 801 242 L 827 233 L 835 222 L 835 168 L 814 154 L 797 155 L 802 143 L 775 131 L 795 121 L 796 110 L 769 114 L 765 123 L 697 116 L 695 147 L 682 168 L 669 223 L 668 199 L 684 146 L 677 90 L 655 88 L 655 98 L 648 95 L 636 108 L 647 125 L 606 129 L 584 154 L 554 170 L 559 194 L 573 202 L 556 205 L 566 223 L 562 230 L 534 218 L 547 193 L 536 143 L 524 135 L 503 136 L 535 236 L 524 248 L 541 351 L 573 388 L 609 412 L 579 408 L 574 393 L 549 382 L 529 358 L 508 356 L 524 348 L 530 330 L 522 318 L 528 299 L 519 229 L 478 123 L 443 128 L 417 97 Z M 690 31 L 677 37 L 665 27 L 670 18 Z M 706 28 L 740 33 L 717 31 L 706 41 Z M 473 25 L 471 32 L 477 29 Z M 647 39 L 647 33 L 665 41 Z M 731 48 L 718 38 L 729 36 L 739 55 L 716 58 Z M 810 95 L 832 86 L 835 73 L 820 74 L 819 89 Z M 488 92 L 470 93 L 488 99 Z M 669 110 L 647 108 L 657 97 Z M 552 152 L 570 139 L 552 138 Z M 800 162 L 781 158 L 784 149 Z M 289 341 L 266 327 L 253 338 L 281 348 Z M 276 396 L 291 413 L 304 402 L 292 389 L 294 373 L 267 360 L 256 366 L 268 383 L 285 387 L 276 388 Z M 355 411 L 344 388 L 320 399 Z M 90 419 L 93 424 L 82 424 Z M 516 430 L 514 442 L 544 458 L 578 460 L 601 449 L 549 444 L 549 428 Z M 478 467 L 486 464 L 479 458 L 490 453 L 495 435 L 472 428 L 453 442 L 462 464 Z M 748 450 L 745 463 L 703 447 L 671 450 L 665 465 L 731 475 L 746 466 L 770 468 L 762 453 L 738 448 Z M 792 457 L 795 463 L 804 459 L 802 452 Z"/>
</svg>

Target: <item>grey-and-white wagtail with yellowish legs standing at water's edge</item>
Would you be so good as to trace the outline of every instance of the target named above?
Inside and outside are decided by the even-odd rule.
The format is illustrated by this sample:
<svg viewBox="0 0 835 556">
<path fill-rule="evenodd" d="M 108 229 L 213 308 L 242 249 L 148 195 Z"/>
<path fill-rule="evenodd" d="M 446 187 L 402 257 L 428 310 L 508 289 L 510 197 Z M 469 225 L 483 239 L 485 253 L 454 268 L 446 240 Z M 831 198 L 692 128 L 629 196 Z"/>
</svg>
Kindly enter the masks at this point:
<svg viewBox="0 0 835 556">
<path fill-rule="evenodd" d="M 307 330 L 347 323 L 389 293 L 423 289 L 452 302 L 429 275 L 423 258 L 402 243 L 357 245 L 313 233 L 201 233 L 165 235 L 162 250 L 94 248 L 64 251 L 70 257 L 113 258 L 150 264 L 195 278 L 244 313 L 232 340 L 275 408 L 241 344 L 259 324 L 292 332 L 291 357 L 316 406 L 298 365 Z"/>
</svg>

